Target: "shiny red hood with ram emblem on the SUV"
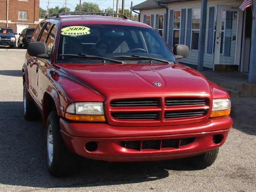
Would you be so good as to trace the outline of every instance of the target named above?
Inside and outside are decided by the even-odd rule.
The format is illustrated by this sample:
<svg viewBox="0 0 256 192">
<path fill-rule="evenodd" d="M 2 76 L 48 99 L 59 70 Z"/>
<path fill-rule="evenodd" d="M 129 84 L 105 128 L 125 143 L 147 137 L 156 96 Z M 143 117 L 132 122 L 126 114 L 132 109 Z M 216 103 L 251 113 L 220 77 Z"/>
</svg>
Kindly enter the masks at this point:
<svg viewBox="0 0 256 192">
<path fill-rule="evenodd" d="M 210 86 L 198 71 L 181 64 L 59 65 L 62 72 L 108 97 L 116 94 L 208 93 Z M 162 86 L 154 85 L 154 82 Z"/>
</svg>

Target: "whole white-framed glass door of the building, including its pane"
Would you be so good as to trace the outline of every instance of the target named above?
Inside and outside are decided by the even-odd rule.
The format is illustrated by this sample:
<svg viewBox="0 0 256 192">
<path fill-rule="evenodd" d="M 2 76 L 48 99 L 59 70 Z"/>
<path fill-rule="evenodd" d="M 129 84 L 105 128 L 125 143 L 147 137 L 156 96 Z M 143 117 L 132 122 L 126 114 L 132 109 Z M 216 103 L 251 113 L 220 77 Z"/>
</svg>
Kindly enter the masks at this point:
<svg viewBox="0 0 256 192">
<path fill-rule="evenodd" d="M 240 9 L 218 5 L 215 33 L 214 65 L 239 65 L 242 40 Z"/>
</svg>

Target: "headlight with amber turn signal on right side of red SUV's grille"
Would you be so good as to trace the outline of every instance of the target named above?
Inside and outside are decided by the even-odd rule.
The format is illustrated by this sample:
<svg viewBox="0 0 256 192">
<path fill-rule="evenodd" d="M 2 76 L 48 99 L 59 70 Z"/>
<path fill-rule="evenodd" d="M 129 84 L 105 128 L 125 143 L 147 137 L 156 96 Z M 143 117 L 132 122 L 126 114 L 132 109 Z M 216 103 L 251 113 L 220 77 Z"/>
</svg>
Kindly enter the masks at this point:
<svg viewBox="0 0 256 192">
<path fill-rule="evenodd" d="M 210 117 L 221 117 L 230 114 L 231 102 L 229 99 L 213 99 Z"/>
</svg>

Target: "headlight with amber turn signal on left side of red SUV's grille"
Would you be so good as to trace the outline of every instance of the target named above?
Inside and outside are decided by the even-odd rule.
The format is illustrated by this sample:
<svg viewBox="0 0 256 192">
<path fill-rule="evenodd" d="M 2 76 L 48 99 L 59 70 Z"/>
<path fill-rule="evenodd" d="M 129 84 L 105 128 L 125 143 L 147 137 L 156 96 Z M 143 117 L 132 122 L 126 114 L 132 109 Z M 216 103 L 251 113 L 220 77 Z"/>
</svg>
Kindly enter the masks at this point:
<svg viewBox="0 0 256 192">
<path fill-rule="evenodd" d="M 104 122 L 104 107 L 102 102 L 76 102 L 71 103 L 65 117 L 69 120 Z"/>
</svg>

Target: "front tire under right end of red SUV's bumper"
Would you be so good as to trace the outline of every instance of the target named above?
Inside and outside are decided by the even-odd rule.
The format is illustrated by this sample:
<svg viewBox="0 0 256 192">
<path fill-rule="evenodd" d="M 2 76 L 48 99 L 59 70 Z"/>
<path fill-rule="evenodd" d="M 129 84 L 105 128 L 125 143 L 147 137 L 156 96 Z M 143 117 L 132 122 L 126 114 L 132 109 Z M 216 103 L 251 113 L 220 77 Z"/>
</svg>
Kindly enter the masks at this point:
<svg viewBox="0 0 256 192">
<path fill-rule="evenodd" d="M 204 154 L 186 158 L 186 162 L 193 168 L 205 169 L 211 166 L 218 156 L 219 148 L 210 150 Z"/>
</svg>

